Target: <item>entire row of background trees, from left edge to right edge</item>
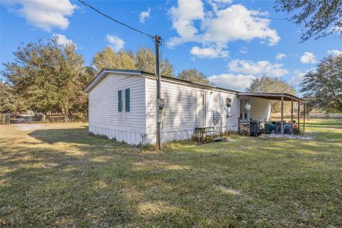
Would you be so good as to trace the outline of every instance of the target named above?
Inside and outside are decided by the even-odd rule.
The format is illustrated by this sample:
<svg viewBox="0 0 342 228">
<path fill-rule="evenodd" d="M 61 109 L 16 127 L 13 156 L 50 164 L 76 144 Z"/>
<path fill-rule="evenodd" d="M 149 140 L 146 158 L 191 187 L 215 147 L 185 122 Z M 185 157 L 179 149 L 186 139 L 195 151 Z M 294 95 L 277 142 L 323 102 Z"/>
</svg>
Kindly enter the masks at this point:
<svg viewBox="0 0 342 228">
<path fill-rule="evenodd" d="M 140 47 L 135 53 L 115 53 L 106 47 L 95 54 L 90 66 L 86 66 L 83 56 L 76 52 L 75 44 L 59 45 L 57 38 L 52 38 L 21 45 L 14 56 L 14 61 L 4 63 L 1 71 L 6 83 L 0 81 L 0 113 L 24 110 L 62 113 L 65 122 L 70 114 L 87 113 L 88 98 L 83 89 L 102 68 L 155 71 L 155 53 L 147 47 Z M 160 63 L 162 75 L 210 84 L 207 76 L 195 68 L 175 76 L 174 67 L 167 58 L 161 58 Z M 254 79 L 246 90 L 296 95 L 293 86 L 271 76 Z M 309 110 L 342 112 L 342 55 L 323 58 L 315 70 L 306 73 L 300 92 L 308 100 Z M 279 103 L 273 103 L 272 111 L 279 110 Z"/>
</svg>

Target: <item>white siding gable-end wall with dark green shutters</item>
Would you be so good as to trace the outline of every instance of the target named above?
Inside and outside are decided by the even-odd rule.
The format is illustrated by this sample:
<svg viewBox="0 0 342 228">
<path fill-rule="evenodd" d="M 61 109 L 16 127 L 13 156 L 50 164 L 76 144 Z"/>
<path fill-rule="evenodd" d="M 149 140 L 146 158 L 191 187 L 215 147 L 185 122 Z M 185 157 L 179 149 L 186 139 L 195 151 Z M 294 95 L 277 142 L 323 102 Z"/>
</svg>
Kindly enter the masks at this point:
<svg viewBox="0 0 342 228">
<path fill-rule="evenodd" d="M 130 112 L 118 112 L 118 90 L 130 88 Z M 125 103 L 125 102 L 123 102 Z M 110 74 L 89 93 L 89 130 L 129 144 L 144 143 L 145 78 Z"/>
</svg>

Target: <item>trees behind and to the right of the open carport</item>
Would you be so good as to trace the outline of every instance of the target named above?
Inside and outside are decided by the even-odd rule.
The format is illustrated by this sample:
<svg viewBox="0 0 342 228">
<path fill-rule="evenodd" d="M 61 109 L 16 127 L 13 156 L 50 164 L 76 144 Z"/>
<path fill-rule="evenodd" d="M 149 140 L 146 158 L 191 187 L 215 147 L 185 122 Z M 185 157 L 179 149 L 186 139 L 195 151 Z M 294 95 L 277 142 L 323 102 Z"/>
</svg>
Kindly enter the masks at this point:
<svg viewBox="0 0 342 228">
<path fill-rule="evenodd" d="M 299 87 L 299 95 L 306 100 L 308 112 L 316 109 L 342 113 L 342 55 L 330 55 L 323 58 L 316 68 L 304 75 Z M 255 78 L 246 90 L 298 95 L 294 86 L 290 86 L 281 78 L 269 76 Z M 286 112 L 289 112 L 290 108 L 289 103 L 284 105 Z M 273 102 L 271 110 L 279 113 L 280 103 Z"/>
</svg>

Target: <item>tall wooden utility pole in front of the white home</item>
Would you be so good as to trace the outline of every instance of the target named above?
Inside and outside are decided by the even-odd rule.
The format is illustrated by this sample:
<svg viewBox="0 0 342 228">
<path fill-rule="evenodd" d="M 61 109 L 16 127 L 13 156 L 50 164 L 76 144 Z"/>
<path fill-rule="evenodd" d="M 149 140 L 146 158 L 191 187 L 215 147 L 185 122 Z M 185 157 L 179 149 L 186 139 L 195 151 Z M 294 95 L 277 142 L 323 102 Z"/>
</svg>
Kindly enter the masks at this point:
<svg viewBox="0 0 342 228">
<path fill-rule="evenodd" d="M 155 76 L 157 78 L 157 100 L 156 100 L 156 105 L 157 105 L 157 147 L 160 150 L 162 148 L 162 139 L 160 138 L 160 127 L 161 127 L 161 122 L 160 122 L 160 88 L 161 88 L 161 81 L 162 78 L 160 76 L 160 57 L 159 57 L 159 46 L 160 46 L 160 40 L 161 37 L 155 35 Z"/>
</svg>

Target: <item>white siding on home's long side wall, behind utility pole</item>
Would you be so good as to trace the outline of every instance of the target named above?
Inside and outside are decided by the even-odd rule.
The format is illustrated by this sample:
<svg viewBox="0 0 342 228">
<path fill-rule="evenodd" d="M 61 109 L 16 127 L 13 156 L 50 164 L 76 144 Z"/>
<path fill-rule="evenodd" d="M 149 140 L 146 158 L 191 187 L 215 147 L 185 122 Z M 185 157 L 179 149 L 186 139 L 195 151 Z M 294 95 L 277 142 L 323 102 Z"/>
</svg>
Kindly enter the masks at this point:
<svg viewBox="0 0 342 228">
<path fill-rule="evenodd" d="M 154 78 L 146 79 L 146 110 L 147 110 L 147 141 L 155 142 L 156 132 L 156 81 Z M 213 126 L 213 111 L 222 117 L 222 130 L 237 130 L 239 105 L 237 95 L 223 90 L 196 88 L 187 83 L 162 80 L 162 98 L 165 98 L 165 122 L 162 128 L 162 141 L 187 140 L 193 137 L 196 128 L 197 91 L 206 92 L 206 126 Z M 217 103 L 214 103 L 216 98 Z M 232 99 L 232 108 L 227 120 L 224 107 L 226 99 Z"/>
</svg>

